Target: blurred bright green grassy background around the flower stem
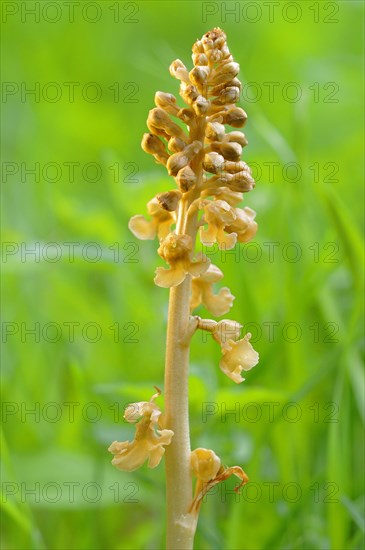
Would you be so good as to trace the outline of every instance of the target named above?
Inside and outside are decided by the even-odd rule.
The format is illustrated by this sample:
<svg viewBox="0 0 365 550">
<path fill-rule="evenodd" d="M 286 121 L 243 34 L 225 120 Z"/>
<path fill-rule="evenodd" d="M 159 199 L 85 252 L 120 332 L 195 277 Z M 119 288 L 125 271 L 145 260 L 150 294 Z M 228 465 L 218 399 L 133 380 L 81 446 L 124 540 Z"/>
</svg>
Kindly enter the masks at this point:
<svg viewBox="0 0 365 550">
<path fill-rule="evenodd" d="M 2 548 L 163 547 L 163 464 L 106 450 L 163 386 L 162 262 L 127 222 L 173 184 L 140 149 L 154 93 L 178 94 L 170 62 L 214 26 L 247 84 L 259 232 L 209 253 L 260 363 L 237 386 L 194 338 L 192 446 L 251 481 L 208 496 L 196 548 L 363 547 L 363 7 L 2 3 Z"/>
</svg>

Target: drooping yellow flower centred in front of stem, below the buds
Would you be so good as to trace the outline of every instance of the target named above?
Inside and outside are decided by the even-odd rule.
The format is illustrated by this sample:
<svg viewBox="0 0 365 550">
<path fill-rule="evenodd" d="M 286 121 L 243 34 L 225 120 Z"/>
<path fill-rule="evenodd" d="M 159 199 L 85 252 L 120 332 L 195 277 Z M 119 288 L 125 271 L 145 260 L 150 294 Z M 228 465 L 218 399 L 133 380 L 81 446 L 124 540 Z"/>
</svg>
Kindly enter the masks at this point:
<svg viewBox="0 0 365 550">
<path fill-rule="evenodd" d="M 158 253 L 170 267 L 156 269 L 156 285 L 164 288 L 178 286 L 188 274 L 199 277 L 204 273 L 208 269 L 210 261 L 204 255 L 198 255 L 196 260 L 192 260 L 190 258 L 192 250 L 193 243 L 189 235 L 169 233 L 161 242 Z"/>
</svg>

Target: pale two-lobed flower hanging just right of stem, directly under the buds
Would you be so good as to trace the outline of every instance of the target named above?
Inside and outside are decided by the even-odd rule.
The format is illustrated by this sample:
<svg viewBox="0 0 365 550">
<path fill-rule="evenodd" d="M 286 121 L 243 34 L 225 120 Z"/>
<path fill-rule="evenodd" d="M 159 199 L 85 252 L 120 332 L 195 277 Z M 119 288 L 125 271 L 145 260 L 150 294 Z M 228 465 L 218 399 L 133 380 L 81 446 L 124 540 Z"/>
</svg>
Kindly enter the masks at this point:
<svg viewBox="0 0 365 550">
<path fill-rule="evenodd" d="M 211 245 L 218 243 L 219 248 L 230 250 L 236 244 L 236 235 L 224 232 L 226 226 L 234 223 L 236 218 L 235 209 L 228 202 L 222 200 L 207 201 L 203 200 L 200 207 L 204 210 L 204 224 L 208 224 L 207 229 L 200 228 L 200 239 L 203 244 Z"/>
</svg>

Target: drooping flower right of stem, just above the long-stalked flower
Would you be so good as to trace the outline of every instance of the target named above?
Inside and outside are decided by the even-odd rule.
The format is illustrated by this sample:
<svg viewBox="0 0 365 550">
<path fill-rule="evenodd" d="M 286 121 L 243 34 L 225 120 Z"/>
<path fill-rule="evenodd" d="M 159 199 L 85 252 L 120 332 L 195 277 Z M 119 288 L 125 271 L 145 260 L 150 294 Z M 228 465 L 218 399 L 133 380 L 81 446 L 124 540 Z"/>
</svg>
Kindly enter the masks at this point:
<svg viewBox="0 0 365 550">
<path fill-rule="evenodd" d="M 213 292 L 213 284 L 222 278 L 222 271 L 216 265 L 211 264 L 205 273 L 193 279 L 190 298 L 191 311 L 200 304 L 203 304 L 215 317 L 225 315 L 230 310 L 234 296 L 229 288 L 223 287 L 217 294 Z"/>
</svg>

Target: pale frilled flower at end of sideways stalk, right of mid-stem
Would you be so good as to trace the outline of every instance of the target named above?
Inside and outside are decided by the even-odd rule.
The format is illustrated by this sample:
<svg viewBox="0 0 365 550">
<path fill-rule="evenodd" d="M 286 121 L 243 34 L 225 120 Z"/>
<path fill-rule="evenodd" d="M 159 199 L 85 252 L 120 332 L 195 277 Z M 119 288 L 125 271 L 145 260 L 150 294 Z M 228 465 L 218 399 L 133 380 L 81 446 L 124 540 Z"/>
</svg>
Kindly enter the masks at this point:
<svg viewBox="0 0 365 550">
<path fill-rule="evenodd" d="M 223 357 L 219 367 L 236 384 L 243 382 L 241 372 L 252 369 L 259 362 L 259 354 L 250 344 L 251 334 L 248 333 L 238 342 L 228 340 L 222 346 Z"/>
</svg>

